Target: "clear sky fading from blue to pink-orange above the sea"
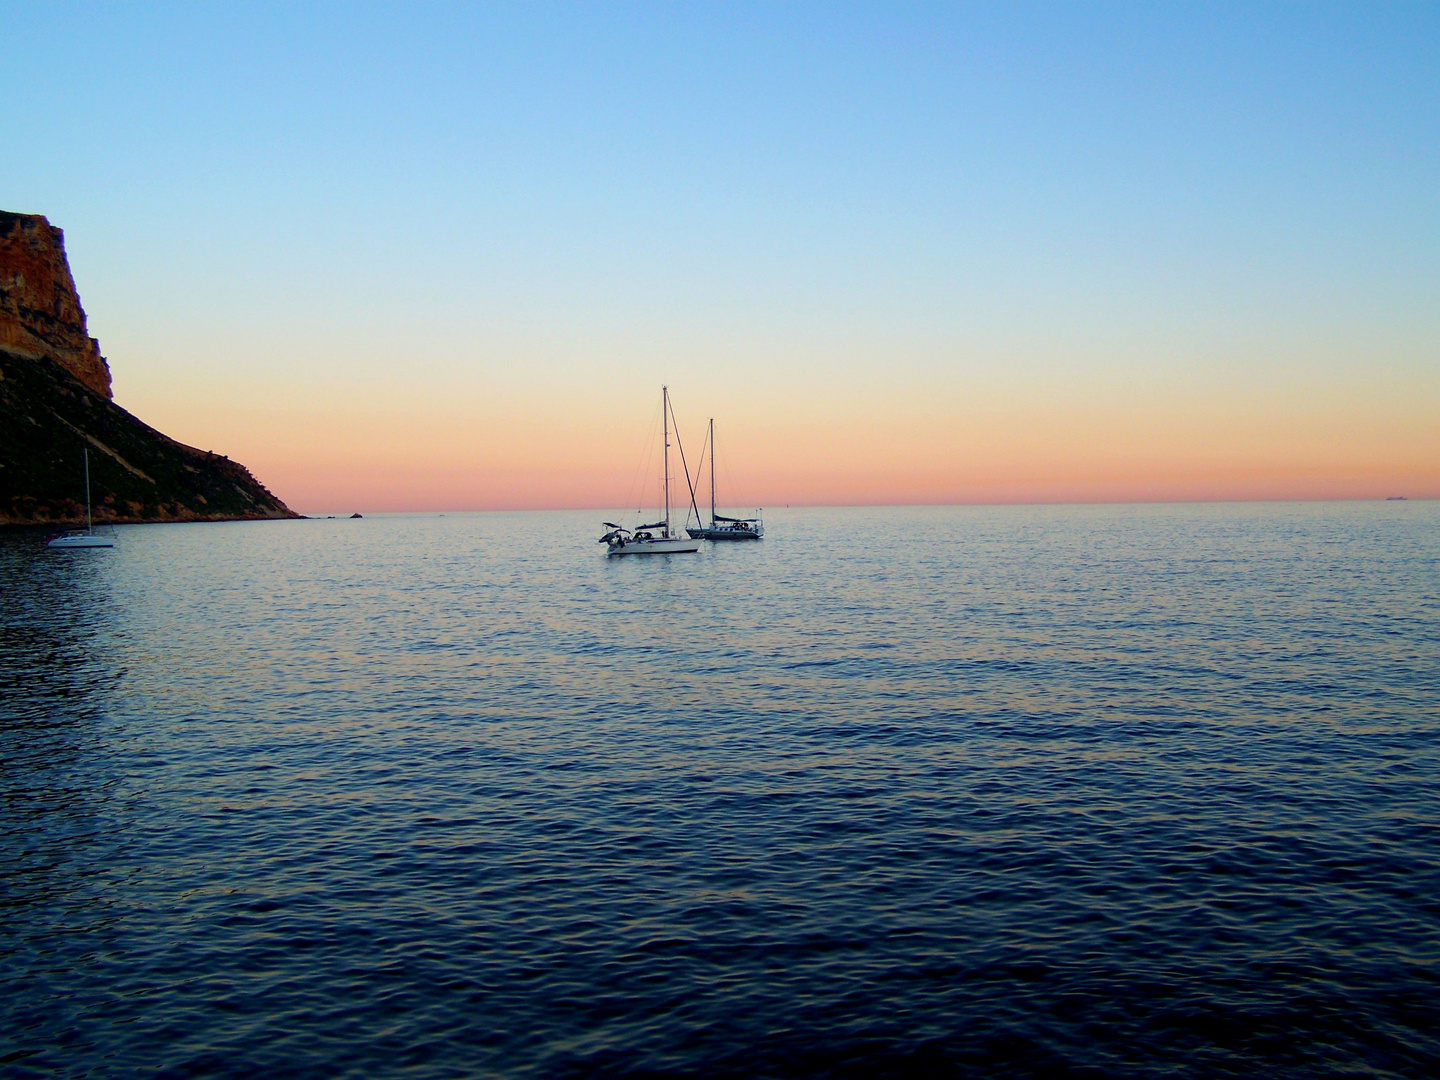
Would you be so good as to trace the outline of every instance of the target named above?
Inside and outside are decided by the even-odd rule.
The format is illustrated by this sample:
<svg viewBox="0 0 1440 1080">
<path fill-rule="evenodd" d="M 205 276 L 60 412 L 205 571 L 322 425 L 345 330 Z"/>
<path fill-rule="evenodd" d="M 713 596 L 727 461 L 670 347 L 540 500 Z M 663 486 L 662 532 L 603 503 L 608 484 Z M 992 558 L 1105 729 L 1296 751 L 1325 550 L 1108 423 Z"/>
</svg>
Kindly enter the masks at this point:
<svg viewBox="0 0 1440 1080">
<path fill-rule="evenodd" d="M 645 501 L 662 383 L 736 508 L 1440 497 L 1440 4 L 0 27 L 115 400 L 302 513 Z"/>
</svg>

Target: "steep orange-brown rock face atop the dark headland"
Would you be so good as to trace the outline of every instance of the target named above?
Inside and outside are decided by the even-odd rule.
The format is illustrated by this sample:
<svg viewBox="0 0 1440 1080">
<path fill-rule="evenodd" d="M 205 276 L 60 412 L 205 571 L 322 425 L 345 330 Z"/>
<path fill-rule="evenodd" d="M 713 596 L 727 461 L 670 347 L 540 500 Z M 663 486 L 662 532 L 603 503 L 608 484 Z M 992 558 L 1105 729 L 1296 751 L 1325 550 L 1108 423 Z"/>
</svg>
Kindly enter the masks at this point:
<svg viewBox="0 0 1440 1080">
<path fill-rule="evenodd" d="M 0 210 L 0 348 L 49 357 L 111 397 L 109 364 L 85 327 L 65 233 L 40 215 Z"/>
</svg>

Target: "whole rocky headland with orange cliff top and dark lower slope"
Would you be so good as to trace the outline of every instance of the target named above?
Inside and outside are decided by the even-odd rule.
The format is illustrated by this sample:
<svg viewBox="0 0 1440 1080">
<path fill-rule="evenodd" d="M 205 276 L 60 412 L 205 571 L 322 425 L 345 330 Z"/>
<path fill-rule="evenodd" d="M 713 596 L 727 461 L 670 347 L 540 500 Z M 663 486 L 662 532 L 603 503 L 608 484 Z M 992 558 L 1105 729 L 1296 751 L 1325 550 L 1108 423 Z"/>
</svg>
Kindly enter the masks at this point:
<svg viewBox="0 0 1440 1080">
<path fill-rule="evenodd" d="M 0 524 L 298 517 L 239 462 L 111 400 L 59 229 L 0 212 Z"/>
</svg>

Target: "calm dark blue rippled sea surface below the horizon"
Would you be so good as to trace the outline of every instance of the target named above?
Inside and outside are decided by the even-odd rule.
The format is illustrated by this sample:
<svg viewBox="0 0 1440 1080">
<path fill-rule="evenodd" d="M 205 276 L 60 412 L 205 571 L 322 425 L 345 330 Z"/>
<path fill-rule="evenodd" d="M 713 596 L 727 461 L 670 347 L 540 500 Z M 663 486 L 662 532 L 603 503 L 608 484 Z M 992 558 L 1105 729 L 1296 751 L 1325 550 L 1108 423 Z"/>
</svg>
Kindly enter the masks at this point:
<svg viewBox="0 0 1440 1080">
<path fill-rule="evenodd" d="M 1440 1074 L 1440 504 L 0 534 L 0 1074 Z"/>
</svg>

